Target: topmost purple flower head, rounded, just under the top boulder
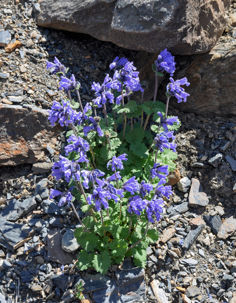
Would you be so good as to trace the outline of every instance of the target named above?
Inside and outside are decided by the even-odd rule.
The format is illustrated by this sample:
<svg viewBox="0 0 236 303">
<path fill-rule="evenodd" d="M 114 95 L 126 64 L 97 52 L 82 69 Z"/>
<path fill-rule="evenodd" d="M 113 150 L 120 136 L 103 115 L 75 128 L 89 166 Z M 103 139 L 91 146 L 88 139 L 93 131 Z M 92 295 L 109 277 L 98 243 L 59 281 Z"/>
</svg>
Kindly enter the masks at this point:
<svg viewBox="0 0 236 303">
<path fill-rule="evenodd" d="M 167 73 L 170 73 L 171 76 L 173 76 L 173 72 L 175 71 L 175 65 L 176 62 L 174 62 L 174 58 L 170 52 L 167 51 L 167 48 L 165 48 L 162 52 L 160 52 L 160 55 L 157 57 L 157 60 L 155 61 L 156 70 L 159 72 L 160 76 L 163 76 L 163 72 L 166 71 Z"/>
</svg>

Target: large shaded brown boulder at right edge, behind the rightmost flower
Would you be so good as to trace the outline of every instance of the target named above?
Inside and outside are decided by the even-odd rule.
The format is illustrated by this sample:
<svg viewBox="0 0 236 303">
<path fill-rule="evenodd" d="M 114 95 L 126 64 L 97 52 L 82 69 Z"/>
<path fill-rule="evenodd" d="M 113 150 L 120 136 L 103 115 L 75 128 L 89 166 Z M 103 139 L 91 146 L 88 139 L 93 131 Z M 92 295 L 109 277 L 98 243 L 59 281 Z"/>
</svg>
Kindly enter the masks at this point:
<svg viewBox="0 0 236 303">
<path fill-rule="evenodd" d="M 235 57 L 236 48 L 231 43 L 217 44 L 210 52 L 197 55 L 190 65 L 176 71 L 173 77 L 175 80 L 186 77 L 190 82 L 185 87 L 190 95 L 187 102 L 179 104 L 176 98 L 170 98 L 170 105 L 205 117 L 236 116 Z M 158 95 L 164 96 L 165 88 L 166 85 Z"/>
</svg>

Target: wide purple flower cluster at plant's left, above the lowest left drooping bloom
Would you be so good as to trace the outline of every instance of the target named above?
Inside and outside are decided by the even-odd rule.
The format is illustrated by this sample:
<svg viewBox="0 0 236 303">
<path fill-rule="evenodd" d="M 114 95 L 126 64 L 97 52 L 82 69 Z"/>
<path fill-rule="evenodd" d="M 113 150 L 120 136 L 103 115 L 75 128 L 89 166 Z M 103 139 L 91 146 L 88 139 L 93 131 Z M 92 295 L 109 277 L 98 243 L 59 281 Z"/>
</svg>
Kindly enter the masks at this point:
<svg viewBox="0 0 236 303">
<path fill-rule="evenodd" d="M 66 181 L 69 183 L 70 179 L 79 181 L 80 179 L 80 166 L 79 162 L 88 162 L 89 160 L 86 159 L 85 156 L 80 157 L 78 160 L 70 161 L 69 159 L 59 156 L 61 160 L 59 162 L 53 163 L 52 167 L 52 176 L 56 178 L 57 181 L 60 178 L 65 178 Z"/>
</svg>

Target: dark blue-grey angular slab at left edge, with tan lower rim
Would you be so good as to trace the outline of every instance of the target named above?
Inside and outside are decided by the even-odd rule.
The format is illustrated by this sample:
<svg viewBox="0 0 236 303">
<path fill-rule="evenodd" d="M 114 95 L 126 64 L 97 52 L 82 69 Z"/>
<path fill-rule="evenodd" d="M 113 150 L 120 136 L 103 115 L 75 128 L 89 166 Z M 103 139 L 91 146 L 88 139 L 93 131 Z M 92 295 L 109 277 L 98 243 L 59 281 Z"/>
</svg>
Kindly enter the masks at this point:
<svg viewBox="0 0 236 303">
<path fill-rule="evenodd" d="M 14 251 L 34 236 L 34 230 L 23 224 L 13 223 L 0 218 L 0 245 Z"/>
</svg>

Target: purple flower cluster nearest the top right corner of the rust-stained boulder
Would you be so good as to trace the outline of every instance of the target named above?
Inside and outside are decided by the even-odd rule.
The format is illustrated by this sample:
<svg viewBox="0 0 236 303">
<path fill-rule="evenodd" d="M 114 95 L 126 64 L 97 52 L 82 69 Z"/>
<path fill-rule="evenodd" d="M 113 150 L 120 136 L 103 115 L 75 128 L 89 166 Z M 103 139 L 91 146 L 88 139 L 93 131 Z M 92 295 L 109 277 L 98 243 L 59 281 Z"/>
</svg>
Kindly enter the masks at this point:
<svg viewBox="0 0 236 303">
<path fill-rule="evenodd" d="M 48 113 L 48 120 L 50 120 L 52 126 L 55 125 L 57 120 L 61 126 L 68 126 L 68 123 L 72 123 L 78 118 L 78 113 L 70 107 L 70 104 L 67 101 L 64 100 L 62 100 L 62 105 L 54 100 Z"/>
</svg>

